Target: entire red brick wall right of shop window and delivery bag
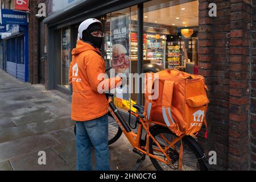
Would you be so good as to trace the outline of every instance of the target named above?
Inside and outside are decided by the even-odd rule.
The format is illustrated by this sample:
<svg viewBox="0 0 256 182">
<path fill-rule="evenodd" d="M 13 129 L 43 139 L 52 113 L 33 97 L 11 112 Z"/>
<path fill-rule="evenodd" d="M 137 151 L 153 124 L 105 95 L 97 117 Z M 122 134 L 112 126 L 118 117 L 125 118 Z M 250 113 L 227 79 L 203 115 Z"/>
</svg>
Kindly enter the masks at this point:
<svg viewBox="0 0 256 182">
<path fill-rule="evenodd" d="M 209 138 L 200 141 L 207 152 L 217 152 L 213 169 L 249 169 L 251 1 L 199 2 L 199 67 L 211 101 Z M 217 17 L 208 15 L 211 2 L 217 5 Z M 253 126 L 251 122 L 252 131 Z"/>
</svg>

